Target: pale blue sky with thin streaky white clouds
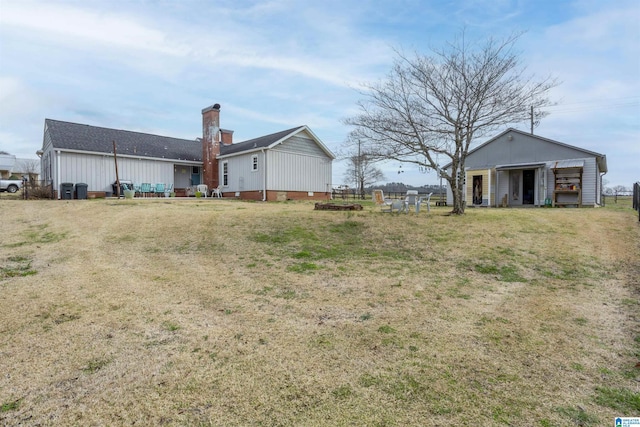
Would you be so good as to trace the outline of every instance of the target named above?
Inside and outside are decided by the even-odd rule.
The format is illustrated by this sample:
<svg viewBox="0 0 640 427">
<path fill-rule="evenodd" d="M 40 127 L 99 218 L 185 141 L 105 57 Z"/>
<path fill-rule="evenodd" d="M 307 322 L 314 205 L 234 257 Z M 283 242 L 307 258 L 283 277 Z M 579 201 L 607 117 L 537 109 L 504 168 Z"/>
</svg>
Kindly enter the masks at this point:
<svg viewBox="0 0 640 427">
<path fill-rule="evenodd" d="M 527 73 L 561 82 L 535 133 L 605 154 L 607 186 L 640 181 L 638 0 L 0 0 L 0 151 L 37 158 L 46 118 L 195 139 L 219 103 L 234 142 L 309 126 L 343 184 L 359 89 L 463 29 L 524 32 Z M 380 183 L 439 181 L 379 167 Z"/>
</svg>

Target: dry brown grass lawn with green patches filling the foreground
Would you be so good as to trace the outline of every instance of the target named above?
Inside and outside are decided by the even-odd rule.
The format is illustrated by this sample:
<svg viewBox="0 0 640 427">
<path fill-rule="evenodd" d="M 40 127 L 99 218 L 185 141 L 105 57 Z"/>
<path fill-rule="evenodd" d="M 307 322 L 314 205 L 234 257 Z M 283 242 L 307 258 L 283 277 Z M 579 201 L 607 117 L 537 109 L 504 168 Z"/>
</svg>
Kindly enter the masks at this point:
<svg viewBox="0 0 640 427">
<path fill-rule="evenodd" d="M 640 224 L 600 209 L 0 199 L 0 424 L 640 415 Z"/>
</svg>

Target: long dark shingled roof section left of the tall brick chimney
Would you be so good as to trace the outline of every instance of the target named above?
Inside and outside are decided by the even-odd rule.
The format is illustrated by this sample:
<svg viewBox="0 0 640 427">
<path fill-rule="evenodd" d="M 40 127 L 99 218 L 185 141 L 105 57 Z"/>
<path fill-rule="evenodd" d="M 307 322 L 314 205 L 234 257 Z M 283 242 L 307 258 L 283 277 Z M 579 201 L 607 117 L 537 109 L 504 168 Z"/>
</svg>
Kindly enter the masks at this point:
<svg viewBox="0 0 640 427">
<path fill-rule="evenodd" d="M 171 138 L 148 133 L 109 129 L 45 119 L 55 148 L 113 153 L 113 142 L 120 155 L 202 161 L 199 140 Z"/>
</svg>

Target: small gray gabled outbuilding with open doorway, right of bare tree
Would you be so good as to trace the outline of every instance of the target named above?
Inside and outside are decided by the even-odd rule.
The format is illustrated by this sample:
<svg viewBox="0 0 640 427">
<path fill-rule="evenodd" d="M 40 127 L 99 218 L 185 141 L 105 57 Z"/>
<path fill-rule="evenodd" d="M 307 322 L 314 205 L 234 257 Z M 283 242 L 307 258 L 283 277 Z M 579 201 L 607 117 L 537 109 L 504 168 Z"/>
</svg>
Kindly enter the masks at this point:
<svg viewBox="0 0 640 427">
<path fill-rule="evenodd" d="M 463 197 L 467 206 L 597 206 L 606 172 L 604 154 L 507 129 L 467 154 Z"/>
</svg>

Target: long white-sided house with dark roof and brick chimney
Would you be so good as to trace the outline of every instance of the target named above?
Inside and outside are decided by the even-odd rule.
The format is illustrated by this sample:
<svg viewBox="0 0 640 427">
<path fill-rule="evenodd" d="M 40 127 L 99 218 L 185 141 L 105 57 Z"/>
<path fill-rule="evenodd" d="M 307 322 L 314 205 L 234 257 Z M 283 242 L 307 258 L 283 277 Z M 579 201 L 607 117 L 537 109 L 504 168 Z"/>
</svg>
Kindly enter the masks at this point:
<svg viewBox="0 0 640 427">
<path fill-rule="evenodd" d="M 193 140 L 45 119 L 41 179 L 53 183 L 58 198 L 69 184 L 110 195 L 117 163 L 121 182 L 164 184 L 177 196 L 206 184 L 225 197 L 329 197 L 335 157 L 307 126 L 233 144 L 219 119 L 219 104 L 203 109 L 203 136 Z"/>
</svg>

